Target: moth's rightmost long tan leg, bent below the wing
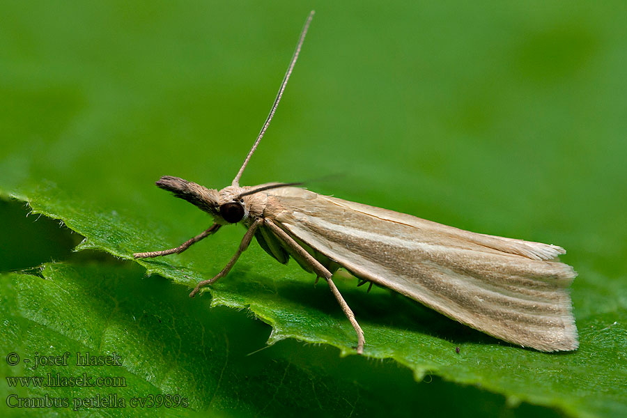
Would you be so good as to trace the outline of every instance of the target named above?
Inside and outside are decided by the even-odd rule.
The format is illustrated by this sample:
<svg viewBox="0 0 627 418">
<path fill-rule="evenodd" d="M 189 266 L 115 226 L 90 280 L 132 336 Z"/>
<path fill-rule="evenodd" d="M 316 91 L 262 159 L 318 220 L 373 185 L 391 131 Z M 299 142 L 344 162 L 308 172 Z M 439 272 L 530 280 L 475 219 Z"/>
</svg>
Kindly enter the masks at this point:
<svg viewBox="0 0 627 418">
<path fill-rule="evenodd" d="M 279 228 L 277 224 L 274 224 L 274 222 L 272 222 L 271 219 L 264 218 L 263 222 L 265 222 L 265 224 L 268 225 L 268 228 L 270 228 L 272 232 L 274 232 L 277 235 L 278 238 L 283 240 L 283 242 L 285 242 L 286 245 L 288 245 L 299 256 L 301 256 L 304 259 L 304 261 L 307 261 L 307 263 L 309 263 L 309 265 L 311 266 L 311 270 L 314 270 L 314 272 L 318 275 L 318 277 L 324 277 L 325 279 L 327 279 L 331 292 L 333 293 L 333 295 L 335 296 L 335 299 L 337 300 L 340 307 L 342 308 L 342 311 L 344 311 L 346 318 L 348 318 L 348 320 L 350 321 L 350 324 L 353 325 L 353 328 L 355 328 L 355 332 L 357 333 L 357 354 L 363 354 L 364 343 L 366 343 L 364 339 L 364 331 L 362 330 L 362 327 L 359 326 L 359 323 L 357 323 L 357 320 L 355 319 L 355 314 L 353 314 L 353 311 L 350 310 L 350 307 L 346 303 L 346 300 L 344 300 L 338 288 L 333 283 L 331 279 L 333 274 L 329 270 L 327 270 L 325 266 L 320 264 L 320 262 L 316 260 L 314 256 L 309 254 L 307 251 L 305 251 L 303 247 L 298 245 L 298 242 L 296 242 L 290 235 L 288 235 L 288 233 L 286 233 L 281 228 Z"/>
</svg>

